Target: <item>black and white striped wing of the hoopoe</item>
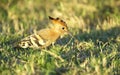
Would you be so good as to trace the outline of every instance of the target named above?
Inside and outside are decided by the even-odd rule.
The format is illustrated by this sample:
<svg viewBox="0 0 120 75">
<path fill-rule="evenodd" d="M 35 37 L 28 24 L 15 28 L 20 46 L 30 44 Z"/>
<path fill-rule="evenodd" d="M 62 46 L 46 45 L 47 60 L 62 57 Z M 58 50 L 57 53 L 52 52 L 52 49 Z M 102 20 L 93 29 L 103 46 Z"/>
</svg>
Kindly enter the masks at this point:
<svg viewBox="0 0 120 75">
<path fill-rule="evenodd" d="M 18 47 L 21 48 L 40 48 L 46 44 L 45 39 L 43 39 L 40 35 L 34 34 L 30 35 L 24 39 L 22 39 L 18 43 Z"/>
</svg>

